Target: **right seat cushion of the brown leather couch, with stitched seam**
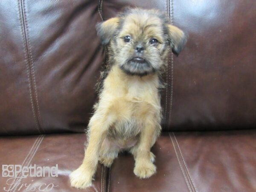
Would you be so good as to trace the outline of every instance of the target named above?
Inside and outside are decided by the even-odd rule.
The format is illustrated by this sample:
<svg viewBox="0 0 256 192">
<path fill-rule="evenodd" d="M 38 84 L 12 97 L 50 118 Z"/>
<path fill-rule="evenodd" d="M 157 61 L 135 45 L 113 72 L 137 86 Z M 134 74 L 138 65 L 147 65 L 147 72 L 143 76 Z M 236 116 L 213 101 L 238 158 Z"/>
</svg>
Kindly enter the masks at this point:
<svg viewBox="0 0 256 192">
<path fill-rule="evenodd" d="M 133 173 L 133 158 L 118 157 L 108 191 L 256 191 L 256 130 L 165 133 L 152 151 L 156 175 L 141 180 Z"/>
</svg>

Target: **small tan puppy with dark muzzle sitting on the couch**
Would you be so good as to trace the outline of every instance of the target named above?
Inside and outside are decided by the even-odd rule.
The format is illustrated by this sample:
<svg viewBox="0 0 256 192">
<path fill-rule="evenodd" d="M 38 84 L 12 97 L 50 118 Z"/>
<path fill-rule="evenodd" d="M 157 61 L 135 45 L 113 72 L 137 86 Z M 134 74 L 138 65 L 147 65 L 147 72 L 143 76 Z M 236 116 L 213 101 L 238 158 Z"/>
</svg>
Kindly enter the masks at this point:
<svg viewBox="0 0 256 192">
<path fill-rule="evenodd" d="M 178 55 L 186 36 L 156 10 L 126 9 L 96 26 L 108 46 L 108 67 L 98 86 L 99 101 L 88 124 L 88 143 L 71 185 L 91 185 L 98 161 L 110 167 L 119 151 L 135 159 L 134 174 L 156 173 L 150 151 L 161 131 L 160 72 L 170 48 Z"/>
</svg>

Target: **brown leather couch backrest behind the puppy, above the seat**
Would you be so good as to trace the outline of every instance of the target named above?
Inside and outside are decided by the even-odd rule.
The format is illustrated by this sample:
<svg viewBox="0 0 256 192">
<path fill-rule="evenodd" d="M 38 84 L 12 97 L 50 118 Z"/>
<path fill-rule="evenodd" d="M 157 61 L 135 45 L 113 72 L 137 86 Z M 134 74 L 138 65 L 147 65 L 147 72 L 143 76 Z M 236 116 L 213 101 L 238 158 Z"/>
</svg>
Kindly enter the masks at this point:
<svg viewBox="0 0 256 192">
<path fill-rule="evenodd" d="M 169 55 L 163 129 L 256 126 L 253 0 L 0 2 L 0 134 L 82 132 L 105 62 L 95 24 L 122 7 L 156 8 L 189 34 Z"/>
</svg>

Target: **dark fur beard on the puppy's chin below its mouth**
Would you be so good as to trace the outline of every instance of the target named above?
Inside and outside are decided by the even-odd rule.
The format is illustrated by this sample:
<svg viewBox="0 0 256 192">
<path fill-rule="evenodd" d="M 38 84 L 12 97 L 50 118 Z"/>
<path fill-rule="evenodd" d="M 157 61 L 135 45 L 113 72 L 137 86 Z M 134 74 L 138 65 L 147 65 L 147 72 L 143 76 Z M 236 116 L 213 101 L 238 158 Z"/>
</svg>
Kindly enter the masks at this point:
<svg viewBox="0 0 256 192">
<path fill-rule="evenodd" d="M 145 62 L 136 62 L 128 60 L 120 65 L 120 68 L 128 75 L 145 76 L 154 73 L 156 69 L 145 60 Z"/>
</svg>

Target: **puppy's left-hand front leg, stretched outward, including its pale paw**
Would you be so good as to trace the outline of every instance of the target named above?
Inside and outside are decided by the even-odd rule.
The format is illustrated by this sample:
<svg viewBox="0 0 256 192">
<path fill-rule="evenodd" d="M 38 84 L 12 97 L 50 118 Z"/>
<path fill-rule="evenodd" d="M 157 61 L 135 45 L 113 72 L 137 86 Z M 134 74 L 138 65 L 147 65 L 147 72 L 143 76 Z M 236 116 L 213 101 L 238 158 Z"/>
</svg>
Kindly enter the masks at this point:
<svg viewBox="0 0 256 192">
<path fill-rule="evenodd" d="M 81 166 L 70 175 L 71 186 L 84 189 L 91 186 L 99 160 L 99 148 L 107 134 L 111 121 L 107 114 L 95 113 L 89 123 L 89 141 Z"/>
</svg>

